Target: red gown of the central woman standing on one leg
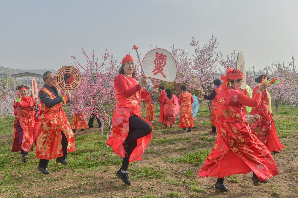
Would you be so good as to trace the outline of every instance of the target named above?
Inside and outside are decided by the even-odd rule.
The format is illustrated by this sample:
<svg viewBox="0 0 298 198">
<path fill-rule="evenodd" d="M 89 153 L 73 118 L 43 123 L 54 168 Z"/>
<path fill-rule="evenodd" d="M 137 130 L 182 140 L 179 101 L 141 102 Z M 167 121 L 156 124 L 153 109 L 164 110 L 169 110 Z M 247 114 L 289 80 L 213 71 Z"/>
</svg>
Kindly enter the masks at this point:
<svg viewBox="0 0 298 198">
<path fill-rule="evenodd" d="M 116 79 L 120 80 L 123 83 L 126 83 L 128 89 L 130 89 L 130 91 L 134 93 L 132 95 L 124 93 L 127 95 L 123 95 L 120 89 L 117 87 L 117 84 L 114 84 L 116 105 L 114 108 L 112 119 L 112 131 L 107 141 L 107 145 L 111 146 L 117 155 L 124 158 L 125 150 L 122 143 L 128 135 L 129 117 L 132 115 L 137 115 L 138 117 L 143 119 L 140 116 L 140 98 L 145 99 L 149 95 L 149 93 L 147 92 L 147 90 L 142 90 L 136 79 L 132 77 L 124 74 L 119 74 L 114 81 L 116 81 Z M 152 126 L 152 124 L 146 119 L 143 120 L 145 120 Z M 137 139 L 137 146 L 130 155 L 129 163 L 142 159 L 141 156 L 143 155 L 144 150 L 151 139 L 152 131 L 149 135 Z"/>
</svg>

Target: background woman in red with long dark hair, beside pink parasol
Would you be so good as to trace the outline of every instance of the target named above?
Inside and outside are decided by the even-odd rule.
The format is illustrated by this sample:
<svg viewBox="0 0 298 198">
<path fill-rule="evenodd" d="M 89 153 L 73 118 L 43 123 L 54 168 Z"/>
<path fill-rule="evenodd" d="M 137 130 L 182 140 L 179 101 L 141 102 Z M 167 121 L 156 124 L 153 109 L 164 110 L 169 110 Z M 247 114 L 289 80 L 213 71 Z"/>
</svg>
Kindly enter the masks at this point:
<svg viewBox="0 0 298 198">
<path fill-rule="evenodd" d="M 162 105 L 164 105 L 164 120 L 163 124 L 167 127 L 167 124 L 170 124 L 170 127 L 173 128 L 173 124 L 176 123 L 175 120 L 175 100 L 172 96 L 171 89 L 166 89 L 166 96 L 162 100 Z"/>
</svg>

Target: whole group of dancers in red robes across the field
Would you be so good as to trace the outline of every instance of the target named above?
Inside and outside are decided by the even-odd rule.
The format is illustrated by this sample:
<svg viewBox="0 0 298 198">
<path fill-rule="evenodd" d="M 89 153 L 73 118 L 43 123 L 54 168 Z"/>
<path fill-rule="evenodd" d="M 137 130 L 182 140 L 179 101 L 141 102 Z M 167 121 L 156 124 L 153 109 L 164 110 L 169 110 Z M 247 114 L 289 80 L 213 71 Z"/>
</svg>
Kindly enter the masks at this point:
<svg viewBox="0 0 298 198">
<path fill-rule="evenodd" d="M 122 165 L 116 175 L 125 185 L 131 185 L 128 177 L 128 166 L 132 161 L 142 159 L 146 146 L 152 139 L 155 102 L 147 91 L 148 78 L 142 76 L 135 79 L 134 59 L 126 55 L 122 59 L 119 75 L 114 79 L 116 104 L 112 118 L 112 131 L 107 145 L 123 158 Z M 253 89 L 253 97 L 241 90 L 243 73 L 237 69 L 227 68 L 221 80 L 214 80 L 214 89 L 210 96 L 202 93 L 205 99 L 212 101 L 211 130 L 217 138 L 214 147 L 199 171 L 201 177 L 218 178 L 216 192 L 230 190 L 224 185 L 224 177 L 234 174 L 253 172 L 253 184 L 267 183 L 270 178 L 279 174 L 271 152 L 279 152 L 284 146 L 276 135 L 273 114 L 271 112 L 270 94 L 266 86 L 261 84 L 263 76 L 256 78 L 257 86 Z M 86 129 L 87 121 L 83 113 L 73 115 L 72 127 L 62 109 L 70 101 L 71 94 L 66 90 L 57 89 L 56 78 L 51 72 L 43 74 L 45 85 L 39 91 L 40 104 L 37 99 L 28 96 L 27 86 L 18 86 L 18 97 L 13 108 L 16 119 L 14 122 L 12 152 L 20 152 L 22 161 L 28 161 L 28 152 L 33 150 L 36 142 L 36 158 L 39 159 L 38 169 L 43 174 L 50 174 L 47 169 L 49 160 L 67 165 L 67 153 L 75 151 L 75 129 Z M 158 87 L 160 80 L 152 82 Z M 144 90 L 142 88 L 146 87 Z M 178 101 L 170 89 L 161 89 L 159 122 L 164 127 L 172 128 L 176 124 L 175 105 L 180 105 L 179 127 L 187 132 L 194 127 L 192 113 L 193 96 L 185 85 L 181 86 Z M 146 103 L 146 119 L 140 114 L 140 99 Z M 79 99 L 76 99 L 77 104 Z M 244 117 L 246 106 L 252 107 L 251 115 L 257 121 L 249 125 Z M 93 127 L 95 118 L 101 126 L 100 119 L 92 113 L 89 128 Z"/>
</svg>

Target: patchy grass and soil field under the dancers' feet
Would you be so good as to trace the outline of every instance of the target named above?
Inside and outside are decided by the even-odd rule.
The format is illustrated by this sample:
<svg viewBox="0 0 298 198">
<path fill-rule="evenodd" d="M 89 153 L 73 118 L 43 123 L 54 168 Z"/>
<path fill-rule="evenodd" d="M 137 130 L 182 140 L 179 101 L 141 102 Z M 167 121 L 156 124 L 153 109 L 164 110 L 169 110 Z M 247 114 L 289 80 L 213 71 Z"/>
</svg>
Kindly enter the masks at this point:
<svg viewBox="0 0 298 198">
<path fill-rule="evenodd" d="M 231 190 L 221 194 L 215 192 L 215 178 L 197 175 L 216 140 L 215 134 L 208 133 L 208 110 L 200 108 L 192 132 L 178 128 L 179 118 L 172 129 L 163 127 L 157 121 L 159 111 L 155 115 L 153 137 L 143 160 L 128 168 L 131 186 L 116 177 L 122 159 L 105 148 L 107 134 L 100 135 L 97 125 L 75 133 L 76 151 L 67 156 L 69 165 L 51 160 L 51 174 L 44 175 L 37 169 L 35 147 L 26 164 L 19 153 L 11 152 L 14 118 L 1 118 L 0 197 L 298 197 L 298 108 L 274 114 L 278 137 L 285 145 L 282 152 L 273 154 L 280 174 L 259 186 L 253 185 L 251 173 L 226 177 L 225 184 Z"/>
</svg>

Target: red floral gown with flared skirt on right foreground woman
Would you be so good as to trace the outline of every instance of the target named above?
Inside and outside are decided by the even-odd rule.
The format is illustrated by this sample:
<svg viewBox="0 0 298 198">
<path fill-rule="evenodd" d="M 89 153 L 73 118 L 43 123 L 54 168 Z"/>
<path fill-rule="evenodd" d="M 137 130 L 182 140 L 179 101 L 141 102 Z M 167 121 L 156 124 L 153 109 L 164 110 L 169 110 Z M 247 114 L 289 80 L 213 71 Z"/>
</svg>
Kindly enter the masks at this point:
<svg viewBox="0 0 298 198">
<path fill-rule="evenodd" d="M 254 99 L 229 87 L 217 97 L 217 137 L 214 147 L 199 171 L 201 177 L 226 177 L 253 171 L 260 181 L 278 175 L 275 161 L 263 143 L 251 133 L 242 106 L 258 106 L 261 94 Z"/>
</svg>

